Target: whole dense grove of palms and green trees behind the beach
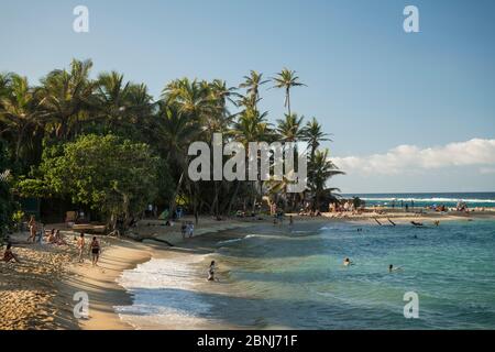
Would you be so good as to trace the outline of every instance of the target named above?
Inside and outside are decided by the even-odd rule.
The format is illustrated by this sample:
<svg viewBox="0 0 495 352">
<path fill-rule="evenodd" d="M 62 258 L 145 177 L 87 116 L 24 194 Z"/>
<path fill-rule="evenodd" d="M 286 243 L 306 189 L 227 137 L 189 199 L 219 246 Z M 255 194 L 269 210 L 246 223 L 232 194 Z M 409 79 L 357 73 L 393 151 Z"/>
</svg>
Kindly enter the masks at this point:
<svg viewBox="0 0 495 352">
<path fill-rule="evenodd" d="M 328 135 L 314 118 L 292 111 L 292 90 L 302 87 L 295 72 L 274 78 L 251 72 L 238 87 L 223 80 L 168 82 L 157 101 L 145 85 L 128 82 L 116 72 L 90 78 L 90 61 L 73 61 L 32 86 L 25 77 L 0 75 L 0 139 L 8 143 L 15 193 L 23 197 L 72 199 L 109 221 L 140 213 L 146 204 L 173 210 L 221 215 L 277 201 L 298 209 L 333 199 L 328 179 L 339 174 L 328 151 Z M 268 120 L 260 111 L 264 89 L 284 91 L 287 113 Z M 294 100 L 294 99 L 293 99 Z M 288 195 L 287 182 L 198 182 L 187 176 L 188 146 L 237 141 L 307 141 L 308 188 Z M 0 169 L 1 172 L 1 169 Z M 6 187 L 3 185 L 2 187 Z"/>
</svg>

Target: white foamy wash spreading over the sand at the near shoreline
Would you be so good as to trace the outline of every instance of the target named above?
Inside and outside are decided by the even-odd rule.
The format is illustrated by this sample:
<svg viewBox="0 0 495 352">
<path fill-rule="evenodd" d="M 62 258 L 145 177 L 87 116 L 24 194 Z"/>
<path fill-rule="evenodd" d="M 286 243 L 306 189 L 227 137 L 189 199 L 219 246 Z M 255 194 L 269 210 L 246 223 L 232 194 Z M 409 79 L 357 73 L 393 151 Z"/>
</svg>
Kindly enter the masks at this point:
<svg viewBox="0 0 495 352">
<path fill-rule="evenodd" d="M 118 283 L 133 296 L 132 306 L 114 307 L 121 319 L 136 329 L 194 329 L 210 305 L 195 289 L 205 279 L 198 265 L 202 255 L 152 258 L 124 271 Z"/>
</svg>

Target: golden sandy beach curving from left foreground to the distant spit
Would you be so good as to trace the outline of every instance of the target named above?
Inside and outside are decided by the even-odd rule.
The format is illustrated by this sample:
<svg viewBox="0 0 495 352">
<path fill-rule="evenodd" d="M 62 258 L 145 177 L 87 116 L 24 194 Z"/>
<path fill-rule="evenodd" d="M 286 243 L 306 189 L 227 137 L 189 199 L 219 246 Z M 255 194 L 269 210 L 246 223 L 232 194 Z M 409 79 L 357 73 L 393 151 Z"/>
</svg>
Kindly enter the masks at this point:
<svg viewBox="0 0 495 352">
<path fill-rule="evenodd" d="M 494 212 L 491 211 L 469 217 L 464 213 L 415 215 L 386 211 L 385 213 L 346 216 L 326 213 L 317 218 L 294 216 L 294 220 L 297 223 L 359 221 L 377 226 L 374 219 L 384 224 L 389 224 L 387 219 L 395 223 L 407 223 L 411 220 L 432 223 L 435 220 L 469 220 L 470 218 L 493 218 L 493 216 Z M 288 223 L 288 220 L 286 222 Z M 14 244 L 14 253 L 19 255 L 21 263 L 0 264 L 0 316 L 2 316 L 0 330 L 133 329 L 132 326 L 122 321 L 114 310 L 116 306 L 132 304 L 130 294 L 118 284 L 118 278 L 123 271 L 134 268 L 151 258 L 190 258 L 195 254 L 205 254 L 211 251 L 208 239 L 212 233 L 217 233 L 218 241 L 218 237 L 221 235 L 229 239 L 229 230 L 237 229 L 238 232 L 245 233 L 251 227 L 268 224 L 272 224 L 270 218 L 224 221 L 201 218 L 195 231 L 195 238 L 183 241 L 179 226 L 165 228 L 161 227 L 158 221 L 143 220 L 134 231 L 141 235 L 153 234 L 160 242 L 144 240 L 140 243 L 129 239 L 100 237 L 102 254 L 96 267 L 91 266 L 88 258 L 82 264 L 77 263 L 77 251 L 72 232 L 64 232 L 68 245 L 23 244 L 26 234 L 15 234 L 12 240 L 19 244 Z M 174 246 L 170 248 L 163 241 Z M 74 295 L 78 292 L 85 292 L 89 296 L 88 319 L 74 318 L 73 309 L 77 304 Z M 172 329 L 173 326 L 169 328 Z"/>
</svg>

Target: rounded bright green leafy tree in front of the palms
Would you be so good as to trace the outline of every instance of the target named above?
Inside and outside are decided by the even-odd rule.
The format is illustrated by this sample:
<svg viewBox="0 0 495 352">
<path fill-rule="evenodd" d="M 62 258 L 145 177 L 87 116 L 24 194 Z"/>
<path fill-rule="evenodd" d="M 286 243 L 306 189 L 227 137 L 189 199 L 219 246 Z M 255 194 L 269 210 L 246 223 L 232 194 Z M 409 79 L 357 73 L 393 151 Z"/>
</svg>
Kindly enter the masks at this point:
<svg viewBox="0 0 495 352">
<path fill-rule="evenodd" d="M 161 160 L 150 146 L 107 134 L 82 135 L 62 155 L 45 153 L 40 169 L 48 189 L 111 219 L 139 215 L 157 196 Z"/>
</svg>

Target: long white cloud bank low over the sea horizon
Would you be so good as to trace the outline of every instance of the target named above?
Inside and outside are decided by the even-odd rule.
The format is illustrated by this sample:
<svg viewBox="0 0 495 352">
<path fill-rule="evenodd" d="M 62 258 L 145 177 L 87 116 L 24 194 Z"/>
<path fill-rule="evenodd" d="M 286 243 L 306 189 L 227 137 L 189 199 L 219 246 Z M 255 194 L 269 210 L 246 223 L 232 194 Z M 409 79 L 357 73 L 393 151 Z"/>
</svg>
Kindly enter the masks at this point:
<svg viewBox="0 0 495 352">
<path fill-rule="evenodd" d="M 473 139 L 443 146 L 420 148 L 399 145 L 385 154 L 370 156 L 332 157 L 333 163 L 348 174 L 397 175 L 452 166 L 482 166 L 481 173 L 495 170 L 495 140 Z"/>
</svg>

